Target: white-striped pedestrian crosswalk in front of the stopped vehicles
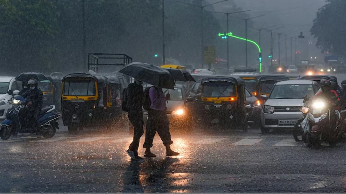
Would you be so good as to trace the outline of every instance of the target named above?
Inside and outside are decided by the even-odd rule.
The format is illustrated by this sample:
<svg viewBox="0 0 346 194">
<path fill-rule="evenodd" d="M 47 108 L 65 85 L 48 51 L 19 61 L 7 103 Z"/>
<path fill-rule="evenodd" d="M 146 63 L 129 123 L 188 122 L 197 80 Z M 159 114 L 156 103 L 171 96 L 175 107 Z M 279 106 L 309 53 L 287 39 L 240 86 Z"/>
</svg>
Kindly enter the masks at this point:
<svg viewBox="0 0 346 194">
<path fill-rule="evenodd" d="M 301 146 L 301 142 L 295 142 L 290 136 L 284 137 L 271 137 L 271 136 L 244 136 L 244 137 L 227 137 L 227 136 L 186 136 L 174 138 L 173 142 L 184 142 L 184 144 L 190 145 L 216 145 L 224 144 L 230 146 Z M 0 144 L 3 143 L 59 143 L 66 142 L 70 144 L 74 143 L 130 143 L 132 137 L 127 135 L 103 135 L 103 136 L 77 136 L 59 134 L 50 139 L 37 139 L 36 136 L 19 136 L 10 138 L 8 140 L 0 140 Z M 141 138 L 144 141 L 144 136 Z M 154 143 L 161 143 L 161 139 L 157 136 L 154 139 Z"/>
</svg>

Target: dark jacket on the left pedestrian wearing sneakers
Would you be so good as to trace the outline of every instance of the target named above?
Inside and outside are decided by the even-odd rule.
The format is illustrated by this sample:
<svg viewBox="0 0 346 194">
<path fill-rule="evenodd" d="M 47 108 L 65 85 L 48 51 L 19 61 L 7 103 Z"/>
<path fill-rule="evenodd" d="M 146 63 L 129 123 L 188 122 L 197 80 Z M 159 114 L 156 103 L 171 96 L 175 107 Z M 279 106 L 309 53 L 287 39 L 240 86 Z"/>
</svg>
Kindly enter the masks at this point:
<svg viewBox="0 0 346 194">
<path fill-rule="evenodd" d="M 129 110 L 141 110 L 143 109 L 143 86 L 136 83 L 131 83 L 126 89 L 127 105 Z"/>
</svg>

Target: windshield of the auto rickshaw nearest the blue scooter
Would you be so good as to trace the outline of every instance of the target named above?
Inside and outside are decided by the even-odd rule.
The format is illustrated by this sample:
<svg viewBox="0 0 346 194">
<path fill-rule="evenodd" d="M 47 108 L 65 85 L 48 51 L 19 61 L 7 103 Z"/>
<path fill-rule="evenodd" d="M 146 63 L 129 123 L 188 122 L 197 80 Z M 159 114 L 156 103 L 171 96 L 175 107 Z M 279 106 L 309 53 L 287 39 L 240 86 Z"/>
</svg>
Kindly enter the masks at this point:
<svg viewBox="0 0 346 194">
<path fill-rule="evenodd" d="M 67 80 L 63 88 L 66 96 L 94 96 L 96 95 L 95 82 L 93 80 Z"/>
</svg>

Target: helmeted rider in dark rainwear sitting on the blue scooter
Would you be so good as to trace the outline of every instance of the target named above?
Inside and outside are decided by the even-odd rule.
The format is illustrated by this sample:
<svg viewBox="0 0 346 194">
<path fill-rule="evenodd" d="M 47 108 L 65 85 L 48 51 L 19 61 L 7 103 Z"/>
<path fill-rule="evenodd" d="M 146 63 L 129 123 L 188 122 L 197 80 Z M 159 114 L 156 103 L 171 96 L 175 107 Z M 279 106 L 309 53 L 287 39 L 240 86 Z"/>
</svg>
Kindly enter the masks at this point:
<svg viewBox="0 0 346 194">
<path fill-rule="evenodd" d="M 28 81 L 29 89 L 22 95 L 25 98 L 25 103 L 28 105 L 27 116 L 30 126 L 36 132 L 37 138 L 41 138 L 41 131 L 38 123 L 38 116 L 42 107 L 42 91 L 37 88 L 37 80 L 30 79 Z"/>
</svg>

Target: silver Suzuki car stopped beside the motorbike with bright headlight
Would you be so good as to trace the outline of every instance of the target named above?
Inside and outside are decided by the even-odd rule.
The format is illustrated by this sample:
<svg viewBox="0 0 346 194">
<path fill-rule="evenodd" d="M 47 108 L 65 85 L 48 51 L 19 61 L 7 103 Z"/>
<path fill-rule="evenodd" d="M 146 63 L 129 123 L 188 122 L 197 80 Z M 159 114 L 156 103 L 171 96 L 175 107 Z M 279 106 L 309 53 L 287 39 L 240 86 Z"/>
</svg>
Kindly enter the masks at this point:
<svg viewBox="0 0 346 194">
<path fill-rule="evenodd" d="M 288 80 L 276 83 L 265 99 L 261 111 L 261 132 L 270 129 L 293 128 L 298 119 L 303 118 L 301 112 L 304 97 L 313 97 L 320 86 L 312 80 Z"/>
</svg>

